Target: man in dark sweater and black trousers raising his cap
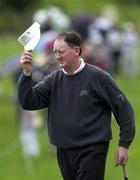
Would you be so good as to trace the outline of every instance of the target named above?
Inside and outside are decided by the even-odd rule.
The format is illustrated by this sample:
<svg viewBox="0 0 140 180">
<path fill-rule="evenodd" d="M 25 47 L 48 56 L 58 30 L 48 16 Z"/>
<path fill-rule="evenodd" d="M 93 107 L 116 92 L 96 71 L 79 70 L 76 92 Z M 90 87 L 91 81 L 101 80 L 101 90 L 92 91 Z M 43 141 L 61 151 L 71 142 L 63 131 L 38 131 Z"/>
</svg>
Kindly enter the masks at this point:
<svg viewBox="0 0 140 180">
<path fill-rule="evenodd" d="M 120 126 L 116 165 L 123 165 L 135 134 L 133 108 L 108 73 L 84 63 L 78 34 L 59 34 L 53 49 L 60 69 L 35 86 L 32 54 L 24 52 L 19 103 L 28 110 L 48 107 L 49 138 L 57 147 L 64 180 L 103 180 L 111 112 Z"/>
</svg>

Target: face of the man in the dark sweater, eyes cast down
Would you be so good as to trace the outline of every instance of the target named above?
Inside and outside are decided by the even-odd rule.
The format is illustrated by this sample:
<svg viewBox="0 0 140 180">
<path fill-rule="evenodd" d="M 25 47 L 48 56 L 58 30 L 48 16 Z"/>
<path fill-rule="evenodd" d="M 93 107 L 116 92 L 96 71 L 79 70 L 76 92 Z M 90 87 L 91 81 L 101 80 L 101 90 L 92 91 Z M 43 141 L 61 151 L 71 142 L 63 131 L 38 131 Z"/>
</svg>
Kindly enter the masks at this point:
<svg viewBox="0 0 140 180">
<path fill-rule="evenodd" d="M 70 47 L 63 39 L 56 39 L 53 50 L 59 66 L 65 69 L 73 66 L 75 59 L 79 57 L 80 48 Z"/>
</svg>

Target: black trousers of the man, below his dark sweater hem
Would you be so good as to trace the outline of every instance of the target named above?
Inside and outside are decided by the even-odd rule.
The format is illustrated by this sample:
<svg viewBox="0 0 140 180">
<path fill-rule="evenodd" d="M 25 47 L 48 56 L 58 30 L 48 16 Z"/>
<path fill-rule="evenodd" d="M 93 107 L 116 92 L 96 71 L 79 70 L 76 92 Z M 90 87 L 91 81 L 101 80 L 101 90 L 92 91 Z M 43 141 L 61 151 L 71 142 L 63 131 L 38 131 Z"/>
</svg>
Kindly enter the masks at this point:
<svg viewBox="0 0 140 180">
<path fill-rule="evenodd" d="M 109 143 L 78 148 L 57 148 L 58 164 L 64 180 L 104 180 Z"/>
</svg>

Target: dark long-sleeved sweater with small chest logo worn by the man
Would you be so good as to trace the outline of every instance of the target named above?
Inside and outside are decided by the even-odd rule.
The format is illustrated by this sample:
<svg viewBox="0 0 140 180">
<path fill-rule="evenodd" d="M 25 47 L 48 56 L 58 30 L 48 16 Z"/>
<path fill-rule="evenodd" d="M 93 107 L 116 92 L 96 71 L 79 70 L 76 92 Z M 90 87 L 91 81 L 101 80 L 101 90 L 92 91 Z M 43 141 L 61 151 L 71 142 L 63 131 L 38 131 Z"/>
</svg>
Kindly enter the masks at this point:
<svg viewBox="0 0 140 180">
<path fill-rule="evenodd" d="M 22 74 L 18 98 L 26 110 L 48 107 L 47 128 L 52 144 L 71 148 L 109 141 L 111 112 L 120 126 L 119 145 L 128 148 L 135 135 L 133 108 L 111 76 L 86 64 L 75 75 L 53 72 L 33 86 Z"/>
</svg>

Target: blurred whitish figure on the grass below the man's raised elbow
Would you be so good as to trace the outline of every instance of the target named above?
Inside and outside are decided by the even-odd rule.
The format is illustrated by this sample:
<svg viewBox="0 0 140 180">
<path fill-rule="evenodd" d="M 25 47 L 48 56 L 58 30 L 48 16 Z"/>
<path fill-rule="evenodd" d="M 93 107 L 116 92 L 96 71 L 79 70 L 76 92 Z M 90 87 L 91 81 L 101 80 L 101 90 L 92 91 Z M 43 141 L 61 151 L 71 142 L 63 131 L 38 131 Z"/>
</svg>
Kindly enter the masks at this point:
<svg viewBox="0 0 140 180">
<path fill-rule="evenodd" d="M 41 116 L 39 116 L 37 111 L 22 110 L 20 118 L 20 138 L 24 155 L 27 157 L 38 157 L 40 155 L 37 130 L 41 125 L 41 121 Z"/>
</svg>

